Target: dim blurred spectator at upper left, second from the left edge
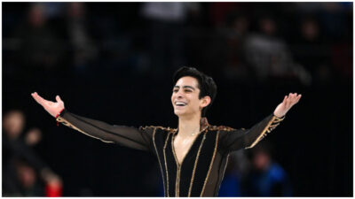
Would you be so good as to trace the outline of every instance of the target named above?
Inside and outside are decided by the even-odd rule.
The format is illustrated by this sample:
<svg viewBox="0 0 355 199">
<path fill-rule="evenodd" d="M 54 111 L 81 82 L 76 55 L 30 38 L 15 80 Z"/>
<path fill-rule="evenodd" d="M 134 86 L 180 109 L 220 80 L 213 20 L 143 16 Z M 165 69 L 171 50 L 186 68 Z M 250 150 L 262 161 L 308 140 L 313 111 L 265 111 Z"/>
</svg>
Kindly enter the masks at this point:
<svg viewBox="0 0 355 199">
<path fill-rule="evenodd" d="M 67 37 L 70 42 L 72 65 L 77 73 L 85 73 L 96 60 L 99 51 L 91 38 L 89 20 L 84 3 L 67 4 Z"/>
</svg>

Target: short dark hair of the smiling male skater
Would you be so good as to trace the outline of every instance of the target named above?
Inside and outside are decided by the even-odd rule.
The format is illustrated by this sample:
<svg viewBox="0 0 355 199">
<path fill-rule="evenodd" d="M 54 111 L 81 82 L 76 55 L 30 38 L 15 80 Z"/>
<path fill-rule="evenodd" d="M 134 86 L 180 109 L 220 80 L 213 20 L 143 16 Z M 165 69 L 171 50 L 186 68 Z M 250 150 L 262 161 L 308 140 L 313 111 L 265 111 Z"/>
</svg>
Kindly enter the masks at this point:
<svg viewBox="0 0 355 199">
<path fill-rule="evenodd" d="M 213 101 L 216 98 L 217 85 L 211 77 L 207 76 L 204 73 L 201 73 L 196 68 L 186 67 L 186 66 L 179 68 L 177 70 L 177 72 L 174 73 L 174 76 L 172 79 L 174 85 L 177 83 L 177 80 L 179 80 L 182 77 L 186 77 L 186 76 L 193 77 L 199 82 L 199 85 L 198 85 L 198 87 L 200 89 L 199 99 L 201 99 L 204 96 L 209 96 L 211 98 L 211 102 L 209 103 L 209 105 L 204 107 L 201 111 L 201 117 L 205 117 L 206 111 L 212 105 Z"/>
</svg>

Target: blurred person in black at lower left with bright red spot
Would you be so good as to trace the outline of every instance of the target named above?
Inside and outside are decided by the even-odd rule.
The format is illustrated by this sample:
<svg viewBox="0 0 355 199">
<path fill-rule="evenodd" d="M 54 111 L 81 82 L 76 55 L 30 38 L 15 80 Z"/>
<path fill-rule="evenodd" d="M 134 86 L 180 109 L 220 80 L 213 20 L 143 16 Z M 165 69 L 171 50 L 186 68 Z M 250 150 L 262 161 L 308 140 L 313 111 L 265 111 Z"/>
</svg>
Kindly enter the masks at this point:
<svg viewBox="0 0 355 199">
<path fill-rule="evenodd" d="M 40 130 L 33 128 L 23 135 L 25 125 L 26 117 L 22 111 L 12 110 L 4 114 L 3 195 L 45 196 L 57 188 L 59 196 L 62 187 L 59 176 L 27 145 L 34 146 L 39 142 Z"/>
</svg>

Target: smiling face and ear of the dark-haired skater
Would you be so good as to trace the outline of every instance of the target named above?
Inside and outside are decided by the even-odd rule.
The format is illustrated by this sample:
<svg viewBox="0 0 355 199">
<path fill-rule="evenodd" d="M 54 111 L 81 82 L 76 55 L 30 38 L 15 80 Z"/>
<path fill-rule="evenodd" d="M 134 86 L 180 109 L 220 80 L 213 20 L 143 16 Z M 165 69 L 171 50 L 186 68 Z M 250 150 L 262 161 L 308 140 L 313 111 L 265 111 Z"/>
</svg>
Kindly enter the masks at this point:
<svg viewBox="0 0 355 199">
<path fill-rule="evenodd" d="M 209 96 L 199 99 L 201 90 L 198 85 L 198 80 L 190 76 L 177 80 L 172 91 L 171 103 L 178 117 L 201 115 L 201 110 L 209 105 Z"/>
</svg>

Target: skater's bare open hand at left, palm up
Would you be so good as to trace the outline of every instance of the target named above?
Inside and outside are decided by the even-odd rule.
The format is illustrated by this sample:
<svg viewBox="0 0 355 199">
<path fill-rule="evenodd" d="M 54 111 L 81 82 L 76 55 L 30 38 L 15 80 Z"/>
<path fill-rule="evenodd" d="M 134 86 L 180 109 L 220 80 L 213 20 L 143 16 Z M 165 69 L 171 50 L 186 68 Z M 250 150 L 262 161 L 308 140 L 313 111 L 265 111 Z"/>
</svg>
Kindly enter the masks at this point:
<svg viewBox="0 0 355 199">
<path fill-rule="evenodd" d="M 59 96 L 56 96 L 56 103 L 43 99 L 43 97 L 39 96 L 37 92 L 32 93 L 31 96 L 33 96 L 36 102 L 41 104 L 44 110 L 49 112 L 53 117 L 56 117 L 59 114 L 59 111 L 64 109 L 64 103 Z"/>
</svg>

